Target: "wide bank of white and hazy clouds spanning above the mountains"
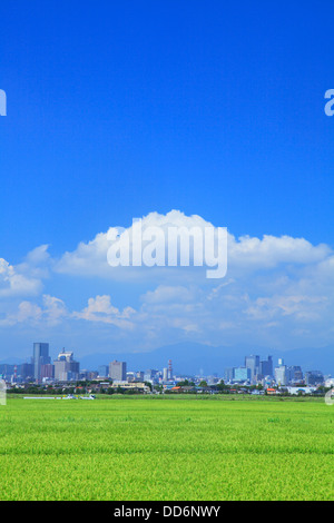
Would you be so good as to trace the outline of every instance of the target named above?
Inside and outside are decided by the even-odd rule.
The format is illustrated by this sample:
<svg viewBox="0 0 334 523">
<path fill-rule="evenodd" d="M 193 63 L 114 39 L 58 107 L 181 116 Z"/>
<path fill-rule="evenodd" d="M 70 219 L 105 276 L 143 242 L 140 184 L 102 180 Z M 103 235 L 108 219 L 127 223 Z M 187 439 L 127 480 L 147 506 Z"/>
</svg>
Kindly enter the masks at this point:
<svg viewBox="0 0 334 523">
<path fill-rule="evenodd" d="M 169 226 L 199 230 L 213 227 L 200 216 L 178 210 L 150 213 L 143 217 L 141 225 L 144 231 L 160 227 L 165 238 Z M 125 229 L 130 239 L 132 227 Z M 69 330 L 77 325 L 82 333 L 95 326 L 97 336 L 100 330 L 109 335 L 110 328 L 110 336 L 120 333 L 129 346 L 136 347 L 183 339 L 217 345 L 246 341 L 272 346 L 333 342 L 334 254 L 330 246 L 289 236 L 237 238 L 228 233 L 227 275 L 217 282 L 207 279 L 202 267 L 110 267 L 107 255 L 115 233 L 115 227 L 99 233 L 58 260 L 50 258 L 47 245 L 29 253 L 18 266 L 1 260 L 0 297 L 20 298 L 26 293 L 37 299 L 19 299 L 16 308 L 0 308 L 0 325 L 67 323 Z M 129 245 L 136 257 L 136 241 Z M 165 246 L 168 248 L 168 243 Z M 42 282 L 52 278 L 53 272 L 58 278 L 61 274 L 80 278 L 81 296 L 89 279 L 89 294 L 87 290 L 79 307 L 68 305 L 70 285 L 66 303 L 51 294 L 41 296 Z M 102 282 L 108 290 L 92 295 L 92 277 L 99 278 L 99 288 Z M 128 306 L 124 308 L 117 306 L 112 292 L 107 294 L 115 282 L 121 282 L 127 297 Z M 140 284 L 140 296 L 135 296 L 134 282 Z"/>
</svg>

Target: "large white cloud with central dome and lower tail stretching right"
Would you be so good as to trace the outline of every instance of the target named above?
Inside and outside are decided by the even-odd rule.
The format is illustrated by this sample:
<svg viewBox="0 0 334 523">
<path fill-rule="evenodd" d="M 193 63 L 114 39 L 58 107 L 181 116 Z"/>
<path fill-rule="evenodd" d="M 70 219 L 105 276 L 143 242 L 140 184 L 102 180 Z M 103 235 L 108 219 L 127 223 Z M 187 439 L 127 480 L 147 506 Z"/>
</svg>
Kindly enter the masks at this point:
<svg viewBox="0 0 334 523">
<path fill-rule="evenodd" d="M 136 223 L 126 227 L 121 231 L 119 228 L 110 227 L 106 233 L 99 233 L 92 240 L 88 243 L 80 243 L 78 247 L 66 253 L 56 264 L 55 270 L 63 274 L 80 275 L 80 276 L 97 276 L 110 279 L 132 279 L 132 278 L 147 278 L 156 280 L 158 278 L 177 279 L 179 277 L 187 277 L 187 279 L 197 279 L 198 277 L 205 278 L 206 273 L 197 267 L 193 270 L 194 260 L 200 257 L 198 249 L 200 246 L 194 241 L 189 247 L 189 270 L 187 267 L 180 267 L 179 260 L 177 263 L 177 270 L 170 267 L 168 263 L 168 253 L 170 251 L 170 236 L 168 230 L 178 228 L 180 231 L 180 243 L 187 244 L 188 231 L 203 231 L 213 229 L 217 237 L 220 226 L 214 226 L 209 221 L 197 215 L 186 216 L 179 210 L 171 210 L 166 215 L 158 213 L 150 213 L 141 218 L 140 221 L 143 235 L 153 228 L 159 229 L 165 239 L 165 265 L 168 267 L 158 267 L 159 259 L 156 266 L 147 269 L 147 267 L 134 267 L 132 259 L 141 259 L 141 251 L 138 251 L 139 245 L 136 241 L 135 229 Z M 121 233 L 121 237 L 129 241 L 129 265 L 130 267 L 110 267 L 108 265 L 108 251 L 112 245 L 111 239 L 116 237 L 117 231 Z M 198 233 L 200 234 L 200 233 Z M 148 238 L 147 238 L 148 239 Z M 157 243 L 157 241 L 156 241 Z M 169 249 L 169 250 L 168 250 Z M 196 250 L 197 249 L 197 250 Z M 326 245 L 312 245 L 304 238 L 293 238 L 289 236 L 275 237 L 265 235 L 263 238 L 242 236 L 236 238 L 233 234 L 227 235 L 227 276 L 234 276 L 243 272 L 254 272 L 265 268 L 275 268 L 282 264 L 317 264 L 324 262 L 331 255 L 331 248 Z M 205 266 L 203 259 L 203 266 Z M 210 260 L 213 264 L 213 260 Z M 199 264 L 200 265 L 200 264 Z"/>
</svg>

